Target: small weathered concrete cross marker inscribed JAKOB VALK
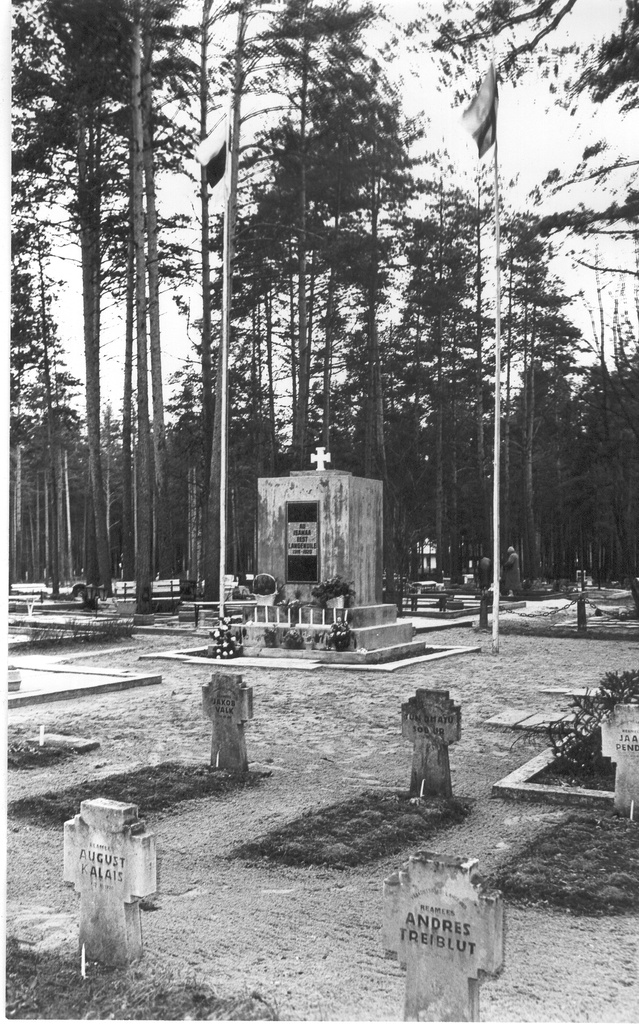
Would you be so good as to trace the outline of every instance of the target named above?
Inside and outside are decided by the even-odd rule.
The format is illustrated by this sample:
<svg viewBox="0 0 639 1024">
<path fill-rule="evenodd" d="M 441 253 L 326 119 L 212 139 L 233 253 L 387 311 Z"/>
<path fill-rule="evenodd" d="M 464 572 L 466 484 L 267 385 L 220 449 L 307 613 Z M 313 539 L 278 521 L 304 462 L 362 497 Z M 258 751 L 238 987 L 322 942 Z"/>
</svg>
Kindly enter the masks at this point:
<svg viewBox="0 0 639 1024">
<path fill-rule="evenodd" d="M 253 718 L 253 687 L 237 673 L 214 673 L 202 687 L 202 708 L 213 724 L 211 764 L 231 772 L 248 771 L 244 723 Z"/>
</svg>

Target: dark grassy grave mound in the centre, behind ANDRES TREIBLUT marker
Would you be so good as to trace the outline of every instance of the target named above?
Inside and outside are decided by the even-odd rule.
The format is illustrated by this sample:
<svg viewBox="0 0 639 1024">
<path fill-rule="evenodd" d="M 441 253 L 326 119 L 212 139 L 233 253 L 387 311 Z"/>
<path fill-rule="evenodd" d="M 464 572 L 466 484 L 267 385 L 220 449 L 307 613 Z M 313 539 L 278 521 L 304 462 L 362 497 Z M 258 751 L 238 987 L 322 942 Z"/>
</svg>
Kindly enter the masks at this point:
<svg viewBox="0 0 639 1024">
<path fill-rule="evenodd" d="M 423 845 L 469 814 L 465 800 L 411 800 L 408 795 L 363 793 L 274 828 L 237 847 L 229 857 L 281 864 L 344 868 Z"/>
</svg>

